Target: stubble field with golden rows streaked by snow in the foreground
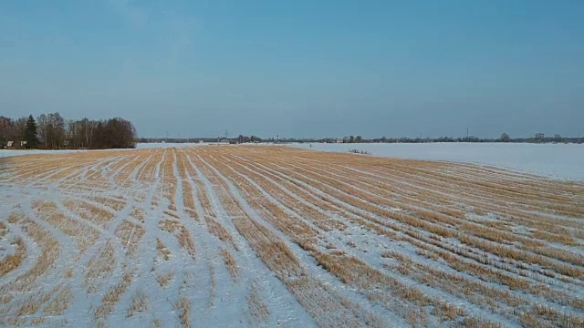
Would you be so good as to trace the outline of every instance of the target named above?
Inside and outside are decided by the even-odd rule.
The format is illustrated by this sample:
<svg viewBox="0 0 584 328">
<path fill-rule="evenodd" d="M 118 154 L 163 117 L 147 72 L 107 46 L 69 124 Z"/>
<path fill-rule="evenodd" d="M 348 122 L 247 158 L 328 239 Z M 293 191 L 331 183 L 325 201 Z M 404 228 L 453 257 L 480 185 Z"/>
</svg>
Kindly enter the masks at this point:
<svg viewBox="0 0 584 328">
<path fill-rule="evenodd" d="M 584 182 L 278 146 L 0 159 L 0 326 L 584 326 Z"/>
</svg>

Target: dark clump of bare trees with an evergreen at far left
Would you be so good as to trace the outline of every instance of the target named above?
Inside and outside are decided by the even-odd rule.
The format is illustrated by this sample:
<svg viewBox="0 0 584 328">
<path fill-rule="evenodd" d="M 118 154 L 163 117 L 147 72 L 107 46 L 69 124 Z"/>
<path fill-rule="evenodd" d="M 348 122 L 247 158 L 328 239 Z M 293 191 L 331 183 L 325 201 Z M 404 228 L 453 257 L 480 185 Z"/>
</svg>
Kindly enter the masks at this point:
<svg viewBox="0 0 584 328">
<path fill-rule="evenodd" d="M 37 118 L 0 116 L 0 149 L 129 149 L 136 129 L 123 118 L 65 119 L 59 113 Z"/>
</svg>

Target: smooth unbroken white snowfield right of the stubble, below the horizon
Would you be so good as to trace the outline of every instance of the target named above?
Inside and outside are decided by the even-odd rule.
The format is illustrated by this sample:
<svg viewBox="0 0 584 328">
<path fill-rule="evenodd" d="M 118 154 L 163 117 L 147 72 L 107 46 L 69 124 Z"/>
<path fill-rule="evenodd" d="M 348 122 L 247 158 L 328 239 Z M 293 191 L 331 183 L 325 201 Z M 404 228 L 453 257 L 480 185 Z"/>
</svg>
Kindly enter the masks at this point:
<svg viewBox="0 0 584 328">
<path fill-rule="evenodd" d="M 310 145 L 312 148 L 310 148 Z M 322 144 L 290 146 L 324 151 L 369 151 L 373 156 L 446 160 L 516 169 L 554 179 L 584 180 L 584 145 L 519 143 Z"/>
</svg>

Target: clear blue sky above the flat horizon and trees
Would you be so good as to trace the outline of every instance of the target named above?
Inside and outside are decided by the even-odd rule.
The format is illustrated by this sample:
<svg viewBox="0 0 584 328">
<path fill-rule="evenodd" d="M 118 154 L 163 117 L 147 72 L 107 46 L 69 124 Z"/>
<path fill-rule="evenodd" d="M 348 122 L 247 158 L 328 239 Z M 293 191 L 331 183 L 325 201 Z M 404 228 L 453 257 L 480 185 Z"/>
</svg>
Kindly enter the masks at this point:
<svg viewBox="0 0 584 328">
<path fill-rule="evenodd" d="M 584 1 L 0 1 L 0 115 L 144 137 L 584 136 Z"/>
</svg>

